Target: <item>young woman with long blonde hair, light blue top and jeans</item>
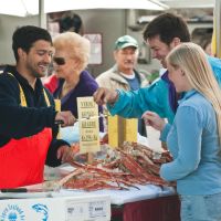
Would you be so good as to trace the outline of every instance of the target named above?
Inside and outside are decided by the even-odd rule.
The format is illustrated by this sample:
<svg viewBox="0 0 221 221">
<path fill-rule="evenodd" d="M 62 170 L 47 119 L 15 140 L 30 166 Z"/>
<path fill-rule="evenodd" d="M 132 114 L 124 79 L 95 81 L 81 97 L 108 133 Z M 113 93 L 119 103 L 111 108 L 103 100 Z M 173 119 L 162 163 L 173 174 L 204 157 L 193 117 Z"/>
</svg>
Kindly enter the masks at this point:
<svg viewBox="0 0 221 221">
<path fill-rule="evenodd" d="M 167 56 L 169 78 L 185 93 L 172 125 L 155 113 L 143 117 L 161 130 L 173 161 L 160 176 L 177 181 L 182 221 L 221 220 L 221 91 L 203 50 L 182 43 Z"/>
</svg>

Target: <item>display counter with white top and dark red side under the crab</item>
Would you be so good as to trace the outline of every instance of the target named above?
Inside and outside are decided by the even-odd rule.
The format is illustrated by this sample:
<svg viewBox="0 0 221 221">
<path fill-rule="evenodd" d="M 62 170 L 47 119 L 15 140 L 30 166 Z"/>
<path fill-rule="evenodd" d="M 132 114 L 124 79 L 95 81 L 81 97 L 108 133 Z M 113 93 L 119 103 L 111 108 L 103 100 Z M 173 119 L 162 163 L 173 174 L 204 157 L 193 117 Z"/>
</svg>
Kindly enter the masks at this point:
<svg viewBox="0 0 221 221">
<path fill-rule="evenodd" d="M 71 171 L 72 168 L 67 166 L 65 170 Z M 90 192 L 62 189 L 61 193 L 74 196 Z M 146 185 L 137 186 L 137 189 L 131 187 L 128 190 L 97 190 L 93 193 L 109 196 L 112 221 L 180 221 L 179 198 L 171 187 Z"/>
</svg>

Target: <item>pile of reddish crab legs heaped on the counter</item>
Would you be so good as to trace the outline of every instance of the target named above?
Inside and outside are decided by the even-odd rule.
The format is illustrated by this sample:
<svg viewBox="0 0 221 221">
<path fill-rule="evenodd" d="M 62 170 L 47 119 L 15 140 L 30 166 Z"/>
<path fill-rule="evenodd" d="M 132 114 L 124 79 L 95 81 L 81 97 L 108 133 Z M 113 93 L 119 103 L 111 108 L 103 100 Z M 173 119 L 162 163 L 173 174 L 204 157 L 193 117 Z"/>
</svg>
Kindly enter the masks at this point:
<svg viewBox="0 0 221 221">
<path fill-rule="evenodd" d="M 159 177 L 161 164 L 171 161 L 168 151 L 157 152 L 137 143 L 124 143 L 123 146 L 107 148 L 104 159 L 92 165 L 76 161 L 71 165 L 74 171 L 59 180 L 65 189 L 99 190 L 137 188 L 137 185 L 172 186 Z"/>
</svg>

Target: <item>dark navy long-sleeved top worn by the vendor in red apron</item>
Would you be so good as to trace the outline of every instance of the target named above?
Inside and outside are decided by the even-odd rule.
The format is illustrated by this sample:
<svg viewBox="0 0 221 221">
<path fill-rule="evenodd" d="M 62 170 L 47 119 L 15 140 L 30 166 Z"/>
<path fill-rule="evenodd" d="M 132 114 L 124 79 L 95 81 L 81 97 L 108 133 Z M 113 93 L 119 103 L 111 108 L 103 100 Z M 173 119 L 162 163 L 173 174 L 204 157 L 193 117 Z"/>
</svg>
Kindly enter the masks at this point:
<svg viewBox="0 0 221 221">
<path fill-rule="evenodd" d="M 13 74 L 13 76 L 8 73 Z M 28 107 L 20 105 L 18 82 L 24 92 Z M 0 148 L 3 148 L 11 138 L 29 137 L 45 127 L 51 127 L 53 140 L 49 148 L 46 165 L 55 167 L 61 164 L 56 159 L 56 150 L 61 145 L 67 145 L 67 143 L 55 138 L 57 126 L 54 125 L 56 115 L 54 101 L 50 92 L 45 91 L 51 103 L 50 107 L 44 99 L 43 85 L 40 78 L 36 80 L 35 90 L 33 90 L 28 81 L 15 71 L 14 66 L 7 66 L 0 74 Z"/>
</svg>

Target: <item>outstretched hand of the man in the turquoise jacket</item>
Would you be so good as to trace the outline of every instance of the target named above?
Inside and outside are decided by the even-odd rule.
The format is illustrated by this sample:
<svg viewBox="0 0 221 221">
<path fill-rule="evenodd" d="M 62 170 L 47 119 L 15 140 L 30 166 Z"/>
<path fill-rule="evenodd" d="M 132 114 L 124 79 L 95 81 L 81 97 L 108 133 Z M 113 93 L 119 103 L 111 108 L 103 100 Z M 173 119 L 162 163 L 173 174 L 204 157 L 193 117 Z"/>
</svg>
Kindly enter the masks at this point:
<svg viewBox="0 0 221 221">
<path fill-rule="evenodd" d="M 98 105 L 104 104 L 114 104 L 118 98 L 118 93 L 115 90 L 109 90 L 105 87 L 99 87 L 94 93 L 94 102 L 96 102 Z"/>
</svg>

